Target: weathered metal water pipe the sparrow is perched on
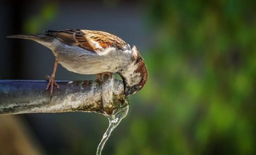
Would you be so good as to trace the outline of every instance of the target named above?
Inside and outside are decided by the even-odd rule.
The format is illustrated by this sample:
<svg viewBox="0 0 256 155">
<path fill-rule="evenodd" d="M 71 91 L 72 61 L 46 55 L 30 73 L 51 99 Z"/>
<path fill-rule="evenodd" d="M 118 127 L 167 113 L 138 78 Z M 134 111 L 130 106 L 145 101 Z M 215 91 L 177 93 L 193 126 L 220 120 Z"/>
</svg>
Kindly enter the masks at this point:
<svg viewBox="0 0 256 155">
<path fill-rule="evenodd" d="M 99 81 L 56 81 L 52 99 L 47 81 L 0 80 L 0 115 L 24 113 L 97 112 L 109 117 L 128 104 L 123 82 L 113 76 Z"/>
</svg>

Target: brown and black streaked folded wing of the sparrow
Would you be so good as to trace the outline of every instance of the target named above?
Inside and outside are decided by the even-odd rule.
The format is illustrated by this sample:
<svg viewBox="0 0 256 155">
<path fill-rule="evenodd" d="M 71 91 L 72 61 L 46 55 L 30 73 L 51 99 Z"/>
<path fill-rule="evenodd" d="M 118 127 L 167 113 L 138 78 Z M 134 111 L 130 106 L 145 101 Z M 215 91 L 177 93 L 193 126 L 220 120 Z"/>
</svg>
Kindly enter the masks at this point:
<svg viewBox="0 0 256 155">
<path fill-rule="evenodd" d="M 115 47 L 125 49 L 129 45 L 121 38 L 102 31 L 91 31 L 83 29 L 66 29 L 61 31 L 46 31 L 63 43 L 76 45 L 91 52 L 103 52 L 106 48 Z"/>
</svg>

